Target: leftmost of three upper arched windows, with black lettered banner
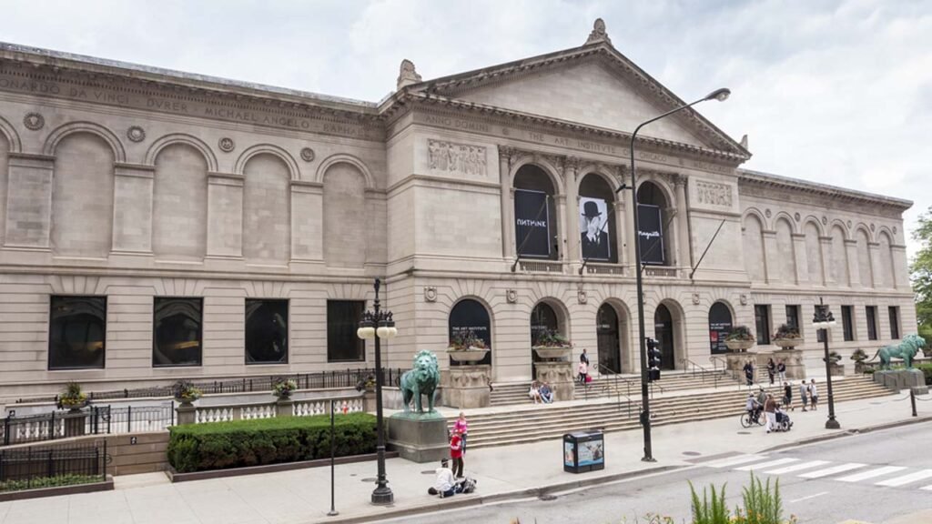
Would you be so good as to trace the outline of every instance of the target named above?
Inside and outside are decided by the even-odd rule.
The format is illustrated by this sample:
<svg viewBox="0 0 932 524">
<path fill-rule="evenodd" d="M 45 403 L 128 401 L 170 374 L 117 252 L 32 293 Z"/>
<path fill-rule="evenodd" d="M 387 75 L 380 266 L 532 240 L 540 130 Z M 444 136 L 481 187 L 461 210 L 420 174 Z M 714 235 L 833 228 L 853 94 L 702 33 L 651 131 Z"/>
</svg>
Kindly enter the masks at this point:
<svg viewBox="0 0 932 524">
<path fill-rule="evenodd" d="M 520 258 L 559 258 L 555 188 L 533 164 L 514 175 L 514 252 Z"/>
</svg>

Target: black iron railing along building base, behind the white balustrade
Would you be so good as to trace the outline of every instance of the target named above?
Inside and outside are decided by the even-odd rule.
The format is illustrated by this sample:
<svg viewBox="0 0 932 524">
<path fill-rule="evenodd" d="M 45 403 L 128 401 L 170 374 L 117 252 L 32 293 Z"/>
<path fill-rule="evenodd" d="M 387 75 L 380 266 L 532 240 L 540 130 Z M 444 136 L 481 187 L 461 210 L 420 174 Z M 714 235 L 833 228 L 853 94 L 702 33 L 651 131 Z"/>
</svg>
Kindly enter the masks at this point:
<svg viewBox="0 0 932 524">
<path fill-rule="evenodd" d="M 383 368 L 385 385 L 398 386 L 404 369 L 400 367 Z M 203 393 L 253 393 L 269 392 L 272 384 L 280 379 L 294 379 L 299 389 L 336 389 L 353 388 L 369 376 L 375 376 L 375 368 L 341 369 L 339 371 L 319 371 L 316 373 L 292 373 L 286 375 L 265 375 L 242 379 L 201 380 L 192 383 Z M 172 396 L 171 385 L 150 388 L 112 390 L 105 392 L 88 392 L 89 400 L 101 401 L 117 398 L 166 397 Z M 21 398 L 23 402 L 58 402 L 58 396 Z"/>
</svg>

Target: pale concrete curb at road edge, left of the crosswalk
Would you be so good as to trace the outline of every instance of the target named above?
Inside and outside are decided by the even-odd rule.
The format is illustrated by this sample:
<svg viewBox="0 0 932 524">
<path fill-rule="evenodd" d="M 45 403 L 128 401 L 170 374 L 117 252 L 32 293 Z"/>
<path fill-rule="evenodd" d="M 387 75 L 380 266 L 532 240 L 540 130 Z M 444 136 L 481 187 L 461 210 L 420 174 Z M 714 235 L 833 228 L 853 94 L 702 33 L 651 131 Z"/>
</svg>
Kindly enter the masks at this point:
<svg viewBox="0 0 932 524">
<path fill-rule="evenodd" d="M 593 486 L 596 484 L 604 484 L 607 482 L 615 482 L 618 480 L 625 480 L 628 478 L 634 478 L 637 476 L 646 476 L 656 473 L 665 473 L 668 471 L 677 470 L 680 468 L 690 467 L 689 465 L 670 465 L 670 466 L 658 466 L 648 469 L 642 469 L 637 471 L 630 471 L 625 473 L 616 473 L 613 475 L 607 476 L 594 476 L 590 478 L 583 478 L 580 480 L 570 480 L 569 482 L 559 482 L 556 484 L 549 484 L 547 486 L 541 486 L 539 488 L 527 488 L 524 490 L 514 490 L 514 491 L 502 491 L 500 493 L 491 493 L 489 495 L 479 496 L 479 497 L 469 497 L 468 495 L 463 498 L 453 498 L 445 499 L 445 502 L 431 502 L 425 503 L 422 505 L 404 507 L 404 508 L 388 508 L 385 512 L 379 514 L 367 514 L 367 515 L 351 515 L 347 517 L 326 517 L 321 520 L 314 520 L 313 522 L 326 522 L 326 523 L 339 523 L 339 524 L 356 524 L 361 522 L 376 522 L 379 520 L 386 520 L 388 518 L 398 518 L 398 517 L 407 517 L 412 515 L 420 515 L 433 513 L 437 511 L 446 511 L 450 509 L 459 509 L 463 507 L 477 506 L 487 503 L 498 503 L 501 501 L 508 500 L 517 500 L 517 499 L 526 499 L 529 497 L 541 497 L 548 493 L 554 493 L 559 491 L 574 490 L 577 488 L 585 488 L 587 486 Z M 430 497 L 430 495 L 427 495 Z M 430 498 L 431 501 L 438 500 L 433 497 Z"/>
</svg>

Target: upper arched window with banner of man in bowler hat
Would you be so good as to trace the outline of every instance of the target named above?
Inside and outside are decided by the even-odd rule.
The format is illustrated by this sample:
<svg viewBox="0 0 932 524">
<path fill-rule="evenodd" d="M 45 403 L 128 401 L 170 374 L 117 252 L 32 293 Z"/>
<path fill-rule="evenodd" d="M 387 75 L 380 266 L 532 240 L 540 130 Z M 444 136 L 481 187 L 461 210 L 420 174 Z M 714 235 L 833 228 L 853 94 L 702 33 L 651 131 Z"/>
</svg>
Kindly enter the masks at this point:
<svg viewBox="0 0 932 524">
<path fill-rule="evenodd" d="M 580 184 L 580 255 L 583 260 L 618 262 L 615 192 L 605 178 L 589 173 Z"/>
</svg>

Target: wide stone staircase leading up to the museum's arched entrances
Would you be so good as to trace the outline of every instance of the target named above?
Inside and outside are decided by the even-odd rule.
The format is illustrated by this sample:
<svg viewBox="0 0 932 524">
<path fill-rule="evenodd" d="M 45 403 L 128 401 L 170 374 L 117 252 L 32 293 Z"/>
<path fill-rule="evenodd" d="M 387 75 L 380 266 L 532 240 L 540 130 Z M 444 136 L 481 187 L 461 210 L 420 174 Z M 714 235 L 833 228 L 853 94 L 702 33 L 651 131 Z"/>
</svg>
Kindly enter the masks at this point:
<svg viewBox="0 0 932 524">
<path fill-rule="evenodd" d="M 828 411 L 828 390 L 825 382 L 816 380 L 816 384 L 819 388 L 819 410 Z M 528 386 L 519 384 L 516 387 L 519 387 L 522 390 L 521 393 L 527 398 Z M 833 381 L 832 387 L 835 402 L 893 394 L 883 386 L 875 384 L 867 376 Z M 495 389 L 510 391 L 509 388 L 499 386 Z M 782 388 L 774 386 L 766 389 L 778 397 L 783 396 Z M 735 427 L 740 429 L 738 416 L 745 410 L 747 388 L 737 387 L 732 383 L 730 387 L 720 387 L 717 390 L 706 389 L 695 393 L 681 393 L 684 394 L 667 392 L 651 400 L 652 425 L 734 417 Z M 795 388 L 793 396 L 798 404 L 799 396 Z M 524 401 L 522 403 L 527 405 L 514 406 L 512 409 L 497 413 L 467 413 L 470 423 L 469 448 L 509 446 L 559 439 L 566 433 L 593 428 L 612 432 L 640 427 L 638 421 L 639 389 L 631 396 L 630 401 L 624 397 L 621 402 L 614 398 L 603 397 L 583 403 L 557 402 L 550 405 L 534 405 L 529 400 L 527 403 Z M 452 423 L 453 421 L 450 421 L 451 428 Z"/>
</svg>

